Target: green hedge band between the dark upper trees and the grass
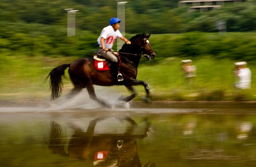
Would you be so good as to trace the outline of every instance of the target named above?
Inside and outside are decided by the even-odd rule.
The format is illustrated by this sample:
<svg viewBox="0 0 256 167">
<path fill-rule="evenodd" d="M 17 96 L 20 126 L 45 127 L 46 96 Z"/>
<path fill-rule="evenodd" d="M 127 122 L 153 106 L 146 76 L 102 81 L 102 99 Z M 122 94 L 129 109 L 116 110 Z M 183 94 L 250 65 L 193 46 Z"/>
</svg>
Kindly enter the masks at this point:
<svg viewBox="0 0 256 167">
<path fill-rule="evenodd" d="M 53 25 L 9 23 L 1 27 L 0 53 L 28 56 L 79 56 L 91 57 L 98 35 L 91 31 L 76 31 L 76 36 L 66 36 L 65 28 Z M 8 33 L 7 27 L 20 27 L 16 33 Z M 44 31 L 43 34 L 39 32 Z M 126 33 L 126 37 L 134 34 Z M 150 41 L 157 53 L 156 60 L 165 57 L 200 57 L 205 55 L 233 60 L 252 61 L 256 53 L 256 33 L 233 32 L 221 34 L 189 32 L 182 34 L 151 35 Z"/>
</svg>

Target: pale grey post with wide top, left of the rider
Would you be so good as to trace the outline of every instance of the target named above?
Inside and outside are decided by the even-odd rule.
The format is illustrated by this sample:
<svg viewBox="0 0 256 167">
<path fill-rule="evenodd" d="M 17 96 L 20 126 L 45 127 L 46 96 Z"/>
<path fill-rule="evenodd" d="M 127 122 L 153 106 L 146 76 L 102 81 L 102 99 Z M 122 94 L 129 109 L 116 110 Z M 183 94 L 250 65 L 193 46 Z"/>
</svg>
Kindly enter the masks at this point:
<svg viewBox="0 0 256 167">
<path fill-rule="evenodd" d="M 76 12 L 79 10 L 65 9 L 68 12 L 67 36 L 75 36 Z"/>
</svg>

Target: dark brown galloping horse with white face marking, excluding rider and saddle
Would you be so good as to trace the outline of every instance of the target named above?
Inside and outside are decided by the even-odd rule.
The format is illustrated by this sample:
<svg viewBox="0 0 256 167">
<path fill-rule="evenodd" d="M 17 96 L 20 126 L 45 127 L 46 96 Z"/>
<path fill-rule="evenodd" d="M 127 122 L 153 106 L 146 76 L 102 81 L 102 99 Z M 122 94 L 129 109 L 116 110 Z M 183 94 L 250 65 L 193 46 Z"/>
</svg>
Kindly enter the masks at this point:
<svg viewBox="0 0 256 167">
<path fill-rule="evenodd" d="M 123 102 L 129 102 L 137 95 L 137 92 L 132 86 L 143 85 L 148 97 L 150 90 L 148 84 L 145 81 L 137 80 L 138 64 L 141 56 L 147 56 L 147 59 L 153 60 L 155 52 L 151 48 L 151 44 L 148 40 L 150 34 L 147 36 L 145 33 L 133 36 L 130 41 L 131 44 L 124 44 L 119 50 L 121 64 L 119 67 L 120 73 L 123 74 L 124 80 L 119 82 L 120 85 L 124 85 L 133 92 L 132 95 L 126 98 L 120 98 Z M 95 95 L 93 85 L 99 86 L 113 86 L 116 85 L 116 81 L 110 71 L 97 71 L 94 67 L 93 58 L 80 58 L 73 61 L 70 64 L 60 65 L 49 73 L 46 80 L 50 76 L 50 87 L 52 90 L 51 100 L 59 98 L 62 93 L 61 76 L 64 75 L 64 71 L 68 68 L 70 79 L 74 83 L 75 88 L 69 93 L 72 97 L 83 88 L 87 88 L 89 97 L 103 106 L 108 106 L 105 102 L 98 99 Z M 109 106 L 108 106 L 109 107 Z"/>
</svg>

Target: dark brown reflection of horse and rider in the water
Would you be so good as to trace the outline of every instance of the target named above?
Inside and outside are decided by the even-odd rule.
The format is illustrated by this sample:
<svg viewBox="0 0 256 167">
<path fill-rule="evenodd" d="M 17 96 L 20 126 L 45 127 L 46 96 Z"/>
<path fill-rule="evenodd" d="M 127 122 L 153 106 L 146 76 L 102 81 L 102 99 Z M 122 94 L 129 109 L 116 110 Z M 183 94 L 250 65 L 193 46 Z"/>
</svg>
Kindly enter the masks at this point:
<svg viewBox="0 0 256 167">
<path fill-rule="evenodd" d="M 125 128 L 123 134 L 95 134 L 95 126 L 102 119 L 90 121 L 87 131 L 82 128 L 74 128 L 74 134 L 68 142 L 67 152 L 61 142 L 63 136 L 61 126 L 51 122 L 51 133 L 48 148 L 53 154 L 69 156 L 71 159 L 79 159 L 85 162 L 93 161 L 95 166 L 108 167 L 142 167 L 136 140 L 148 136 L 150 124 L 146 121 L 144 134 L 133 134 L 138 124 L 130 117 L 118 119 L 121 123 L 127 121 L 131 126 Z M 154 163 L 147 163 L 147 167 L 155 167 Z"/>
</svg>

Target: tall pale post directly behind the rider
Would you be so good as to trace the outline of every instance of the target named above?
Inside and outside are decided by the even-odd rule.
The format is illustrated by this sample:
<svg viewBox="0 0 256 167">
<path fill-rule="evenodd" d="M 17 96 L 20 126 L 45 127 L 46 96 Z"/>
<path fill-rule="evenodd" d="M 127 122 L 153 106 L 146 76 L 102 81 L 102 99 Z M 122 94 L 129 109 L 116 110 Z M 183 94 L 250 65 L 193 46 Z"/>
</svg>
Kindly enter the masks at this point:
<svg viewBox="0 0 256 167">
<path fill-rule="evenodd" d="M 117 2 L 117 17 L 121 20 L 119 31 L 125 37 L 125 3 L 122 0 L 116 0 Z M 119 51 L 124 42 L 121 39 L 117 39 L 117 51 Z"/>
</svg>

